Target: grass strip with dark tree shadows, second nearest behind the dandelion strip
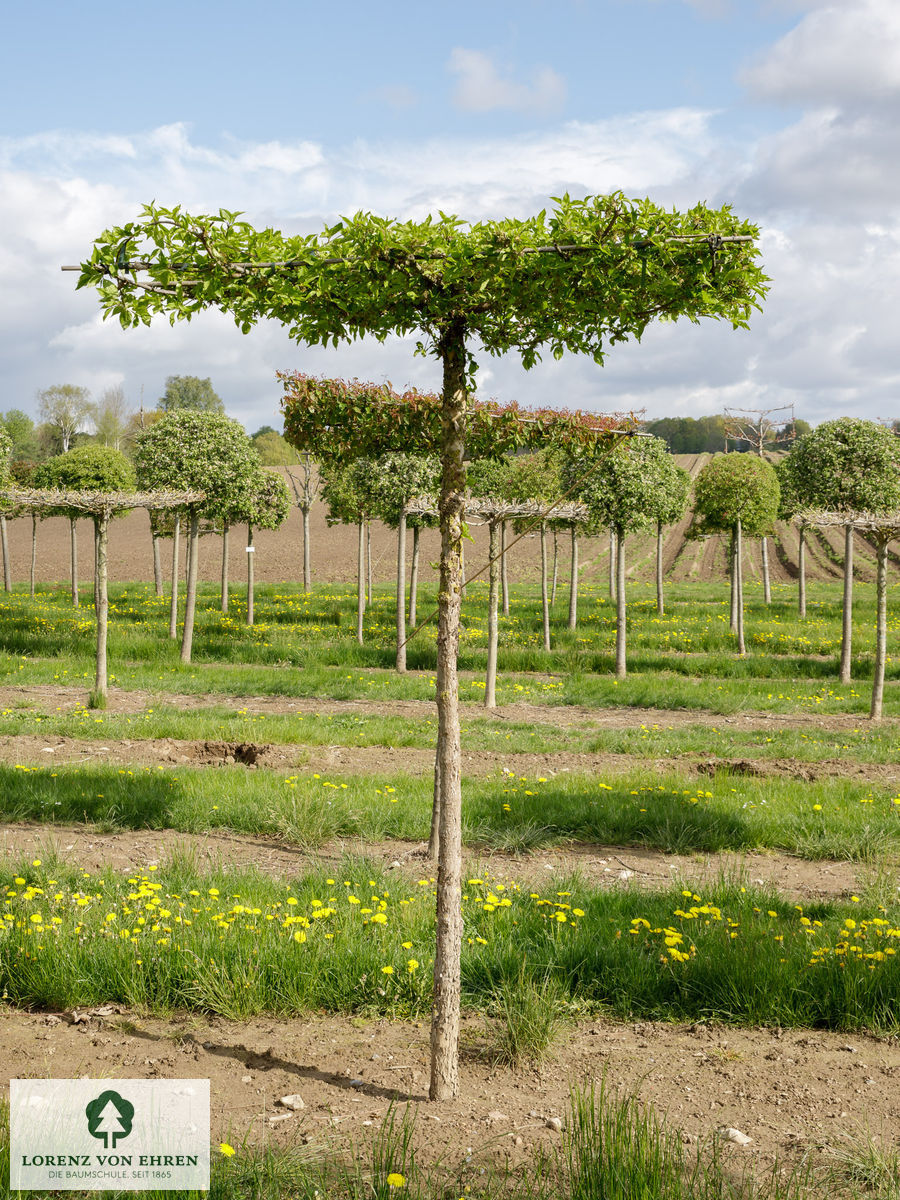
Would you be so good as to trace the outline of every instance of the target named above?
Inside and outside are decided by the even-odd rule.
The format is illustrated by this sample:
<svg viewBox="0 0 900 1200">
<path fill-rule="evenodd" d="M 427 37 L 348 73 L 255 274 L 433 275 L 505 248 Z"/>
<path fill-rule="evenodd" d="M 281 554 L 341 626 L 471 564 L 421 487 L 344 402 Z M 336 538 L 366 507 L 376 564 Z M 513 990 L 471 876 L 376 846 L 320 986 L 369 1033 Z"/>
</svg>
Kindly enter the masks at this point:
<svg viewBox="0 0 900 1200">
<path fill-rule="evenodd" d="M 7 821 L 229 829 L 316 847 L 347 836 L 424 841 L 431 804 L 430 779 L 400 773 L 0 766 L 0 817 Z M 463 841 L 505 851 L 565 841 L 671 853 L 772 848 L 875 863 L 895 859 L 900 850 L 900 797 L 853 780 L 756 779 L 727 770 L 700 784 L 646 768 L 606 780 L 522 779 L 510 770 L 464 781 Z"/>
</svg>

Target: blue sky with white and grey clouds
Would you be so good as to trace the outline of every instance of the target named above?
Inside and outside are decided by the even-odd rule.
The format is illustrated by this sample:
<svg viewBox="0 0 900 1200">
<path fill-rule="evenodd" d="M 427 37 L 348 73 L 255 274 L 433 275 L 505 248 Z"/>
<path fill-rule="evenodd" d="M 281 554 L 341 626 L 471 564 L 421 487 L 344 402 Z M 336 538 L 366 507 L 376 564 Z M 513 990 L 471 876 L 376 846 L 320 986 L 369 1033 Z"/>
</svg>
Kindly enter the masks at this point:
<svg viewBox="0 0 900 1200">
<path fill-rule="evenodd" d="M 898 0 L 0 0 L 0 410 L 36 415 L 61 383 L 151 408 L 194 374 L 252 433 L 281 428 L 278 370 L 438 386 L 414 338 L 103 322 L 60 266 L 150 200 L 293 233 L 622 190 L 758 224 L 762 313 L 650 326 L 602 367 L 485 359 L 481 395 L 900 418 Z"/>
</svg>

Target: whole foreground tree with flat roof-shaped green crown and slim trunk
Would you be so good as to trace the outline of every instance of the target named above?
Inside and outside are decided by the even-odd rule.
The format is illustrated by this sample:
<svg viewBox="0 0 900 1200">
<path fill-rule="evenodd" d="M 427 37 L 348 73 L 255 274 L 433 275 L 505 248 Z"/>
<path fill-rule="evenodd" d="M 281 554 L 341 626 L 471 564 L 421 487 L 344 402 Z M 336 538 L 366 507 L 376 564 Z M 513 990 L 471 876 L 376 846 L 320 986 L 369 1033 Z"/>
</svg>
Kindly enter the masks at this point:
<svg viewBox="0 0 900 1200">
<path fill-rule="evenodd" d="M 322 234 L 286 238 L 221 210 L 194 217 L 149 205 L 108 229 L 82 264 L 107 317 L 190 319 L 204 307 L 244 331 L 264 317 L 318 344 L 415 334 L 442 365 L 438 668 L 443 779 L 432 1020 L 433 1099 L 458 1090 L 462 946 L 462 793 L 457 648 L 466 491 L 469 349 L 590 354 L 640 337 L 655 318 L 725 318 L 745 326 L 766 292 L 757 230 L 728 208 L 680 214 L 622 193 L 563 197 L 530 220 L 466 224 L 440 215 L 400 222 L 356 214 Z M 133 260 L 130 257 L 133 253 Z M 190 270 L 186 270 L 190 266 Z M 416 450 L 421 445 L 412 443 Z M 298 449 L 310 449 L 308 445 Z M 409 449 L 395 445 L 394 449 Z"/>
</svg>

